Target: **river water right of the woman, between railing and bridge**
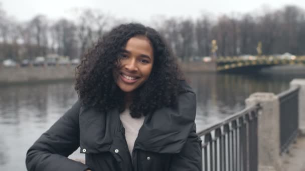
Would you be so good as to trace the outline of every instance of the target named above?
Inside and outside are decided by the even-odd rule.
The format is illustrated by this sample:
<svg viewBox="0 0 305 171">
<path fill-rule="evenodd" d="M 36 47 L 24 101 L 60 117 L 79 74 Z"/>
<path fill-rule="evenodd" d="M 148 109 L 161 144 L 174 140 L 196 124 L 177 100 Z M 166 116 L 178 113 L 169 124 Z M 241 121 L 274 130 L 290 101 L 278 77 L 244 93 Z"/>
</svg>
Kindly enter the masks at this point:
<svg viewBox="0 0 305 171">
<path fill-rule="evenodd" d="M 245 107 L 244 100 L 257 91 L 279 93 L 289 88 L 289 82 L 305 74 L 200 74 L 188 75 L 197 94 L 197 129 L 201 130 L 217 120 Z"/>
</svg>

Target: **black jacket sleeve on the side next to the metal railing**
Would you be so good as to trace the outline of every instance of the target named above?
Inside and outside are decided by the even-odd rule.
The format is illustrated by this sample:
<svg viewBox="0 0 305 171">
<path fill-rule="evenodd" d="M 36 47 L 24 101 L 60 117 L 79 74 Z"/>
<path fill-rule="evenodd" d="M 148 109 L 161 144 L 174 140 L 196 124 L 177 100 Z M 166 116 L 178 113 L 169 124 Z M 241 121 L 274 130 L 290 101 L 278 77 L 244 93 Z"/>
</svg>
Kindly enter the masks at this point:
<svg viewBox="0 0 305 171">
<path fill-rule="evenodd" d="M 194 123 L 195 126 L 195 123 Z M 201 139 L 194 128 L 179 153 L 173 155 L 170 171 L 201 171 L 202 150 Z"/>
</svg>

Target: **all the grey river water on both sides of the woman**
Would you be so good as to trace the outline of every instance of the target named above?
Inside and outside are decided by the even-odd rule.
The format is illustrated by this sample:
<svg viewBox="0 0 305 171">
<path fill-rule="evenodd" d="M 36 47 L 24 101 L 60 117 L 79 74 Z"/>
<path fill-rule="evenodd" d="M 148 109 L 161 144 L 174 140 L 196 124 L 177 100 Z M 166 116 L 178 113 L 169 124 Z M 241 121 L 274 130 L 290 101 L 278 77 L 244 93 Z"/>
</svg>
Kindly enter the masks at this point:
<svg viewBox="0 0 305 171">
<path fill-rule="evenodd" d="M 257 91 L 279 93 L 296 71 L 267 70 L 257 74 L 186 74 L 197 94 L 197 129 L 201 130 L 245 107 L 245 98 Z M 0 85 L 0 170 L 26 170 L 25 155 L 34 141 L 75 101 L 73 82 Z M 83 158 L 78 151 L 71 158 Z"/>
</svg>

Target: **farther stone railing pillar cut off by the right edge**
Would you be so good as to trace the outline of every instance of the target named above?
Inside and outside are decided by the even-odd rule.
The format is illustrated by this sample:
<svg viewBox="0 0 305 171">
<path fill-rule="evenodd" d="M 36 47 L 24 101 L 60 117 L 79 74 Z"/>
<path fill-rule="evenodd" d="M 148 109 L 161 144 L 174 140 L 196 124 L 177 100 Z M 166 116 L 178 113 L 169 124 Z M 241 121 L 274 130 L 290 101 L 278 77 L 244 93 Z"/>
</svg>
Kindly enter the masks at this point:
<svg viewBox="0 0 305 171">
<path fill-rule="evenodd" d="M 298 127 L 299 133 L 305 135 L 305 79 L 293 79 L 290 86 L 299 86 L 298 91 Z"/>
</svg>

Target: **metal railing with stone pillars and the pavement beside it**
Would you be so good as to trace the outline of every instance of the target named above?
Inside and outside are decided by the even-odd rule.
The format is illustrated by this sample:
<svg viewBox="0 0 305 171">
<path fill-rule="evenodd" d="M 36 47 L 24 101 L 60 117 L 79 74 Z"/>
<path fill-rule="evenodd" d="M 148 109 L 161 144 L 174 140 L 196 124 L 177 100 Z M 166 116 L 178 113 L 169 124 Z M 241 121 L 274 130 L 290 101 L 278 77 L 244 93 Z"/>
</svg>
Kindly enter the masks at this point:
<svg viewBox="0 0 305 171">
<path fill-rule="evenodd" d="M 279 94 L 253 93 L 245 102 L 242 111 L 197 132 L 203 170 L 305 170 L 305 79 L 293 79 Z"/>
</svg>

